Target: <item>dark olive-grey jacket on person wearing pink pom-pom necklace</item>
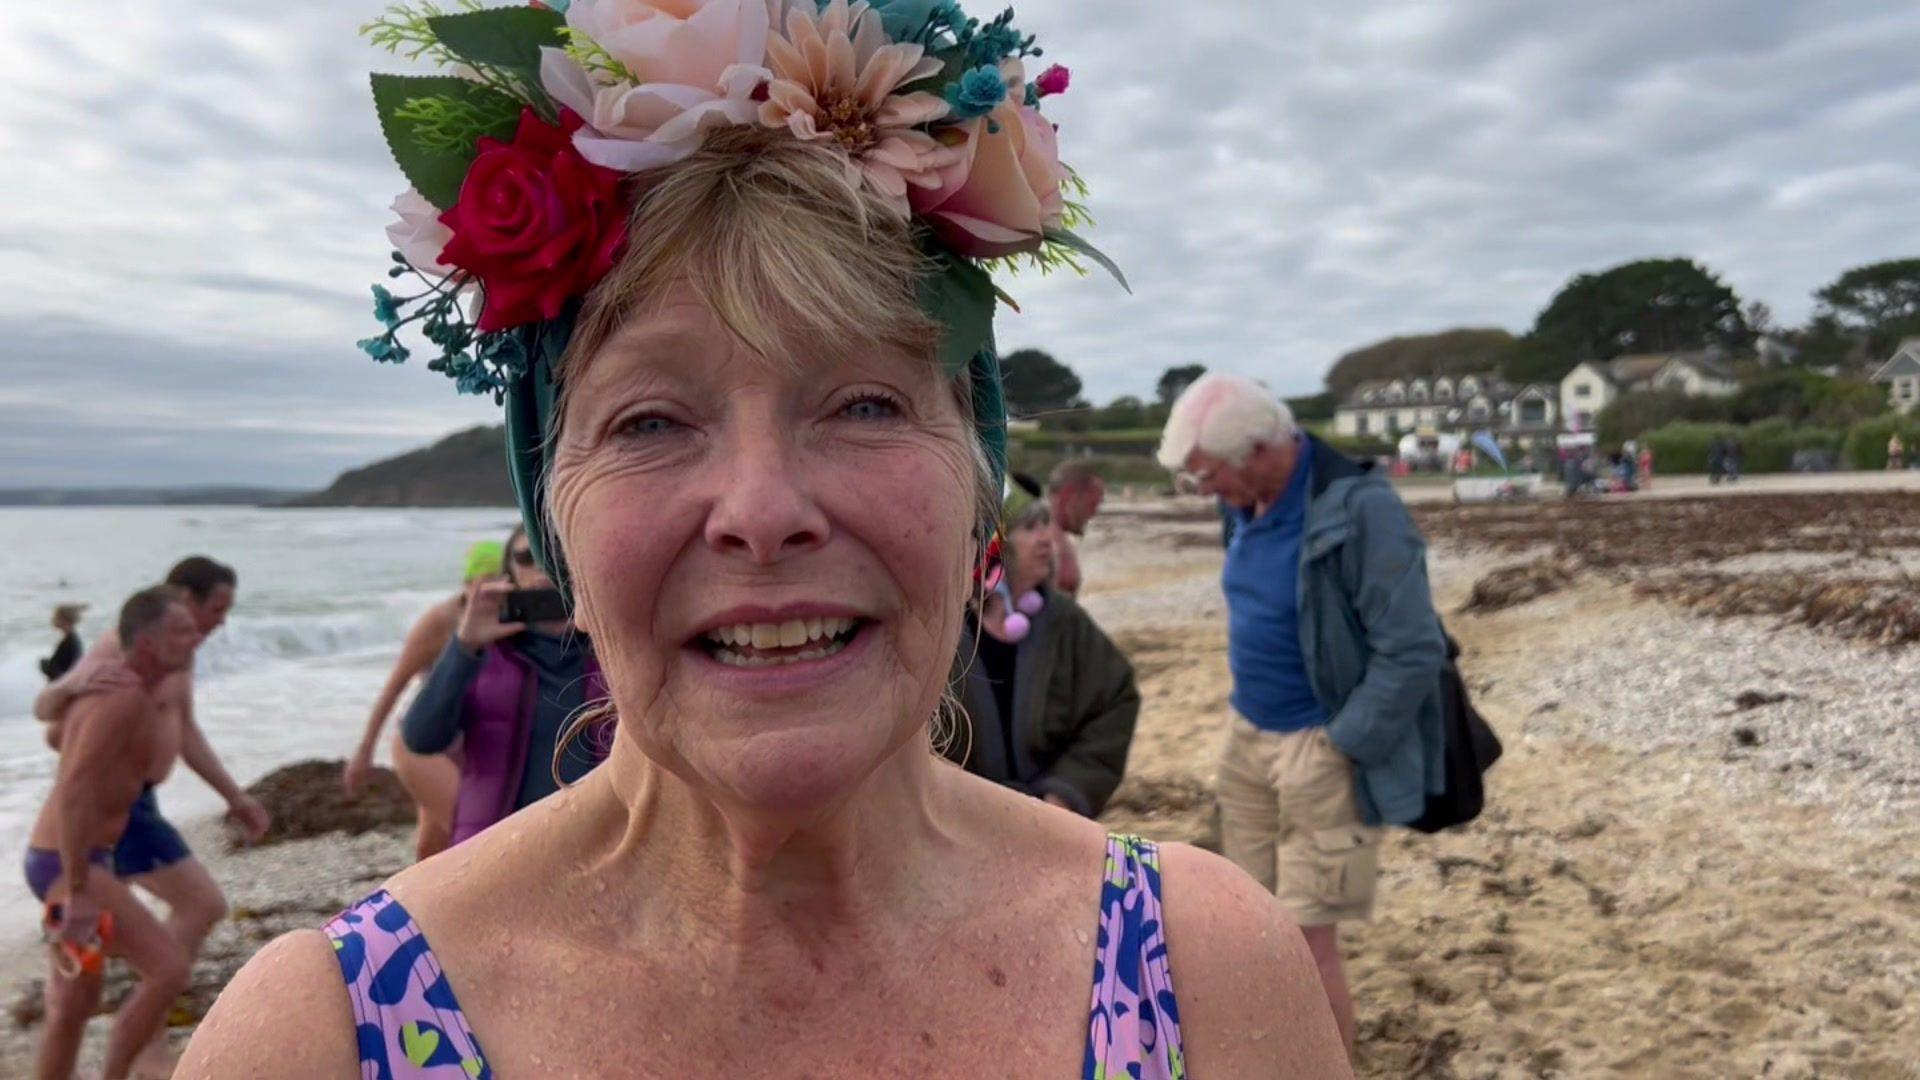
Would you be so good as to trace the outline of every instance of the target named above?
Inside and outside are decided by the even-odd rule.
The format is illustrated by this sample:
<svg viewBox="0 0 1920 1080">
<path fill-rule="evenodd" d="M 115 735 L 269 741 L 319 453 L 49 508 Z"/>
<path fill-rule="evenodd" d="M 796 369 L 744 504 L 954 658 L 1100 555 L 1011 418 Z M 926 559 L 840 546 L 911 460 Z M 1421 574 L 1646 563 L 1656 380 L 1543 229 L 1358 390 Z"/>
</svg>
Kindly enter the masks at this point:
<svg viewBox="0 0 1920 1080">
<path fill-rule="evenodd" d="M 1060 796 L 1096 817 L 1127 771 L 1140 690 L 1133 665 L 1071 596 L 1043 596 L 1046 607 L 1014 653 L 1014 759 L 1002 749 L 1000 705 L 979 665 L 960 686 L 973 730 L 958 732 L 947 755 L 968 773 L 1031 796 Z M 960 648 L 970 640 L 972 625 Z"/>
</svg>

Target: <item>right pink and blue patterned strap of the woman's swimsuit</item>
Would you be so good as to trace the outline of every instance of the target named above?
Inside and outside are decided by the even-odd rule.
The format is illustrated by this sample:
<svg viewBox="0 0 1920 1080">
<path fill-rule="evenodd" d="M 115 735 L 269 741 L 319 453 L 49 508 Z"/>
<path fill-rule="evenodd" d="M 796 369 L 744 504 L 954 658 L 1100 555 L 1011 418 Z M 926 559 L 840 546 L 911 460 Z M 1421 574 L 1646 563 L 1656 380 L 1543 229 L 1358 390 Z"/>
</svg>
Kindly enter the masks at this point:
<svg viewBox="0 0 1920 1080">
<path fill-rule="evenodd" d="M 1160 915 L 1160 847 L 1139 836 L 1106 838 L 1081 1076 L 1187 1078 L 1181 1013 L 1173 1001 L 1167 932 Z"/>
</svg>

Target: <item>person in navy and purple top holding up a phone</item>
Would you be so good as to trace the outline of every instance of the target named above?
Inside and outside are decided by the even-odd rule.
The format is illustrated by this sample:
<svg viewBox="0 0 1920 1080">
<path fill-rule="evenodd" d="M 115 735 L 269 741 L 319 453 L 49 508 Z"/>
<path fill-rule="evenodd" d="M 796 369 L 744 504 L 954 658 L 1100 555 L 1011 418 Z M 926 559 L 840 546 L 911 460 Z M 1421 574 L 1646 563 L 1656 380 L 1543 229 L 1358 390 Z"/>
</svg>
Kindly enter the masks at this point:
<svg viewBox="0 0 1920 1080">
<path fill-rule="evenodd" d="M 524 528 L 507 538 L 503 571 L 467 588 L 453 640 L 399 726 L 413 753 L 461 744 L 451 844 L 572 784 L 605 757 L 591 740 L 572 740 L 555 757 L 568 721 L 607 690 Z"/>
</svg>

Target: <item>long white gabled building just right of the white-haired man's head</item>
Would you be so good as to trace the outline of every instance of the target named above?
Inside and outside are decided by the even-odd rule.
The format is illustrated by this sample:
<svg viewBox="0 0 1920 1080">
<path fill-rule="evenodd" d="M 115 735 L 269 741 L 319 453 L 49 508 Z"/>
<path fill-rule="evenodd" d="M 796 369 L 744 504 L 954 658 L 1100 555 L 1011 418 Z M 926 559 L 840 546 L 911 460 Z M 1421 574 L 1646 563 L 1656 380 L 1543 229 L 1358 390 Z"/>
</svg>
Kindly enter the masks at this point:
<svg viewBox="0 0 1920 1080">
<path fill-rule="evenodd" d="M 1356 386 L 1332 415 L 1334 434 L 1350 438 L 1480 429 L 1498 436 L 1557 430 L 1553 386 L 1513 386 L 1494 375 L 1373 379 Z"/>
</svg>

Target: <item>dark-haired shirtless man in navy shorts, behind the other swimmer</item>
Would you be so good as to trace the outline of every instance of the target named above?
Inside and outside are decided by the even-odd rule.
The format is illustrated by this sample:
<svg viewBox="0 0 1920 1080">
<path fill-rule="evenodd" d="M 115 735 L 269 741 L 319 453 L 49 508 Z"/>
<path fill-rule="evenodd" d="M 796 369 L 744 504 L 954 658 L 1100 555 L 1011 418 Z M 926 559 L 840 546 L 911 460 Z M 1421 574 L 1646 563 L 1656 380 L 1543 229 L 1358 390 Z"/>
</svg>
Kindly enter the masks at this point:
<svg viewBox="0 0 1920 1080">
<path fill-rule="evenodd" d="M 192 615 L 200 640 L 227 623 L 227 611 L 234 605 L 238 580 L 238 575 L 230 567 L 205 555 L 180 559 L 167 573 L 167 584 L 180 590 L 182 603 Z M 33 703 L 33 713 L 42 721 L 50 721 L 50 746 L 60 749 L 61 740 L 67 738 L 67 728 L 73 726 L 67 707 L 75 692 L 88 686 L 102 671 L 119 663 L 119 638 L 106 634 L 81 657 L 81 663 L 65 678 L 40 692 Z M 248 796 L 234 782 L 232 774 L 227 773 L 219 755 L 213 753 L 213 746 L 207 744 L 207 736 L 202 734 L 200 724 L 194 721 L 192 665 L 188 663 L 182 671 L 171 675 L 154 692 L 154 700 L 161 726 L 177 732 L 177 738 L 161 740 L 154 748 L 154 757 L 146 773 L 146 788 L 134 801 L 125 834 L 113 847 L 113 874 L 167 903 L 167 928 L 173 930 L 173 936 L 179 938 L 180 947 L 186 949 L 192 961 L 200 955 L 200 947 L 205 944 L 207 934 L 213 932 L 213 926 L 221 919 L 227 919 L 227 896 L 221 894 L 221 886 L 213 880 L 213 874 L 194 857 L 180 832 L 161 817 L 154 788 L 173 773 L 175 761 L 186 759 L 188 769 L 198 773 L 207 786 L 227 799 L 228 815 L 246 832 L 248 842 L 265 836 L 271 821 L 267 809 L 253 796 Z M 161 1061 L 165 1061 L 165 1045 L 156 1042 L 150 1057 L 142 1057 L 142 1065 L 157 1067 Z"/>
</svg>

